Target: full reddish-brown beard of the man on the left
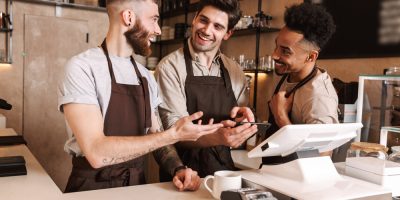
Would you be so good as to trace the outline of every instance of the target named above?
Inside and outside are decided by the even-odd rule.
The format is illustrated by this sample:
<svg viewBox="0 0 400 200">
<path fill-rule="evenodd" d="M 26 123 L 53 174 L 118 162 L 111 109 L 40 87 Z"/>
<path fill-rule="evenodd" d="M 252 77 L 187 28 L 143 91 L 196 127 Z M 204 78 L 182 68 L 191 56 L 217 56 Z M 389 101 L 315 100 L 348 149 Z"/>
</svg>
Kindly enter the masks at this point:
<svg viewBox="0 0 400 200">
<path fill-rule="evenodd" d="M 151 48 L 148 45 L 150 33 L 144 28 L 139 19 L 136 19 L 135 26 L 127 30 L 124 35 L 135 54 L 142 56 L 149 56 L 151 54 Z"/>
</svg>

